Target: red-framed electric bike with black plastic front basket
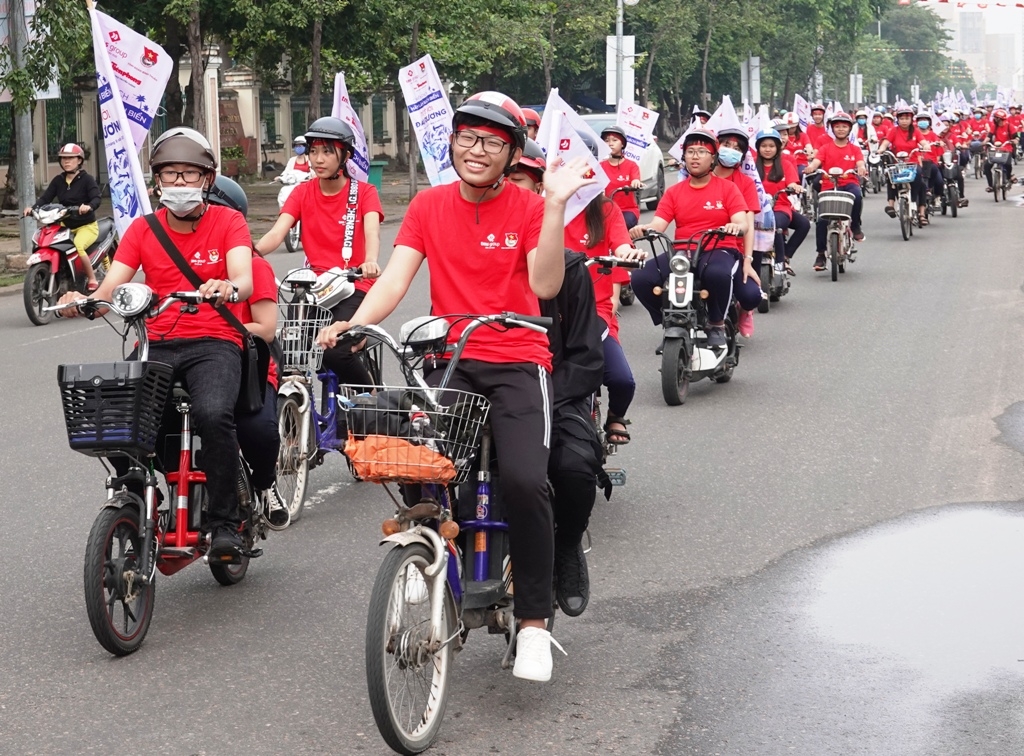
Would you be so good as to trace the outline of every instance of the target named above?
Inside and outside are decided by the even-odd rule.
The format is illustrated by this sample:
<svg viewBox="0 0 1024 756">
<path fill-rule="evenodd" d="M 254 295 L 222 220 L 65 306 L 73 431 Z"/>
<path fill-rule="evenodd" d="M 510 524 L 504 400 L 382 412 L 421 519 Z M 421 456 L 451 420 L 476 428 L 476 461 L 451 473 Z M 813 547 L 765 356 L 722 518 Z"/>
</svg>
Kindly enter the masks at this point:
<svg viewBox="0 0 1024 756">
<path fill-rule="evenodd" d="M 137 360 L 93 365 L 60 365 L 57 383 L 72 450 L 103 462 L 109 474 L 106 500 L 89 532 L 85 548 L 85 604 L 96 640 L 123 657 L 141 645 L 153 619 L 156 576 L 183 570 L 203 559 L 214 579 L 230 586 L 245 578 L 250 559 L 260 556 L 256 544 L 272 530 L 267 503 L 253 490 L 249 467 L 239 455 L 237 494 L 242 515 L 241 555 L 211 560 L 203 534 L 207 509 L 202 439 L 191 425 L 191 397 L 172 369 L 151 362 L 146 320 L 180 303 L 183 317 L 195 312 L 198 291 L 175 292 L 160 299 L 144 284 L 115 288 L 111 301 L 89 299 L 51 310 L 81 307 L 87 314 L 109 308 L 123 319 L 112 327 L 122 338 L 137 340 Z M 108 319 L 104 314 L 104 320 Z M 159 429 L 170 402 L 180 417 L 178 433 L 160 447 Z M 168 429 L 170 430 L 170 429 Z M 127 461 L 123 474 L 111 471 L 114 458 Z M 159 490 L 163 472 L 167 496 Z"/>
</svg>

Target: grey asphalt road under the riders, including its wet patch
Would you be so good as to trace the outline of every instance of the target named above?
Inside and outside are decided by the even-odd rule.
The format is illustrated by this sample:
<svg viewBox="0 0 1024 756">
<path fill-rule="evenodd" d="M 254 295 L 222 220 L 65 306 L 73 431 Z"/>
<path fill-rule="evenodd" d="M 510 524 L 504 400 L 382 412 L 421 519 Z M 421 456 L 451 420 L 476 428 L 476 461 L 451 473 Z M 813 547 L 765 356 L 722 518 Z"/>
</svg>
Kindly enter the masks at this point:
<svg viewBox="0 0 1024 756">
<path fill-rule="evenodd" d="M 524 683 L 471 633 L 432 753 L 1024 752 L 1024 211 L 972 179 L 968 197 L 909 243 L 868 198 L 838 283 L 808 242 L 733 381 L 683 407 L 660 396 L 658 332 L 624 312 L 629 482 L 595 510 L 568 658 Z M 424 271 L 387 325 L 425 307 Z M 117 349 L 100 323 L 34 328 L 0 299 L 0 751 L 386 753 L 364 629 L 390 509 L 337 457 L 241 585 L 162 577 L 142 648 L 96 643 L 82 557 L 103 473 L 67 447 L 54 373 Z"/>
</svg>

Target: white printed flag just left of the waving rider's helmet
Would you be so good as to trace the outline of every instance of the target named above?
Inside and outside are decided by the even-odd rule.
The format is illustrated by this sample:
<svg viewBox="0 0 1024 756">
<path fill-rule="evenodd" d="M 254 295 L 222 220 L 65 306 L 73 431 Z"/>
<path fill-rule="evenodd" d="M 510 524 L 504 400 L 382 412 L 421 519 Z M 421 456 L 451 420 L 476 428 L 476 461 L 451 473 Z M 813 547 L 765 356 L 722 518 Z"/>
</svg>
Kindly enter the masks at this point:
<svg viewBox="0 0 1024 756">
<path fill-rule="evenodd" d="M 424 55 L 398 72 L 409 118 L 420 142 L 423 168 L 431 186 L 459 180 L 452 165 L 450 141 L 455 111 L 449 102 L 433 58 Z"/>
</svg>

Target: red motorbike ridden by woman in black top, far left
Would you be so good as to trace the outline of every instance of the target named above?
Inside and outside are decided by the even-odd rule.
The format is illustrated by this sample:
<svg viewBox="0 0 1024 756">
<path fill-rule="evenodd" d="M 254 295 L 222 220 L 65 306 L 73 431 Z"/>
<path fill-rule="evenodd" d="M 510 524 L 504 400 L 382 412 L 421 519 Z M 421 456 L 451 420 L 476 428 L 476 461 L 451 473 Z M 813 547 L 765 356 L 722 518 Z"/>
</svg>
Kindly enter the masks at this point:
<svg viewBox="0 0 1024 756">
<path fill-rule="evenodd" d="M 43 205 L 32 211 L 32 217 L 41 227 L 32 235 L 32 254 L 29 255 L 23 296 L 25 311 L 37 326 L 45 326 L 53 319 L 53 313 L 47 308 L 69 291 L 88 293 L 85 286 L 89 277 L 75 249 L 71 229 L 60 224 L 61 220 L 77 212 L 77 207 L 63 205 Z M 96 281 L 102 281 L 118 245 L 114 219 L 99 218 L 97 223 L 99 236 L 89 245 L 86 253 Z"/>
</svg>

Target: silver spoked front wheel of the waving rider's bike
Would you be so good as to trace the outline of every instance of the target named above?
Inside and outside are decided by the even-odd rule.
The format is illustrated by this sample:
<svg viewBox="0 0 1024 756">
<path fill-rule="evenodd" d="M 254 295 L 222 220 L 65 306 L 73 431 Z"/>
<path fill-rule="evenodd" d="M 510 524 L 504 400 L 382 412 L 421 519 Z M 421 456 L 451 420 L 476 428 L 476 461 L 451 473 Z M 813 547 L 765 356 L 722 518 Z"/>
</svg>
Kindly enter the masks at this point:
<svg viewBox="0 0 1024 756">
<path fill-rule="evenodd" d="M 456 610 L 445 589 L 442 637 L 431 639 L 429 582 L 423 573 L 432 561 L 420 543 L 391 549 L 377 573 L 367 616 L 370 708 L 381 737 L 402 754 L 430 747 L 447 705 Z"/>
</svg>

